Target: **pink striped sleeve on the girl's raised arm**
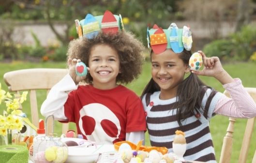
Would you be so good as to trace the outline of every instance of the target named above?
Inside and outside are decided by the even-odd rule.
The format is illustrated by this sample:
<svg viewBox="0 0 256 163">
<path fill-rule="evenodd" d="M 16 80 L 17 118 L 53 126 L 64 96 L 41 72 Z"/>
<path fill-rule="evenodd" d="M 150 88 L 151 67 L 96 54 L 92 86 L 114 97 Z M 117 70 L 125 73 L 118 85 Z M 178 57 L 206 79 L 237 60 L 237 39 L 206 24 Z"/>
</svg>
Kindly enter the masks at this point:
<svg viewBox="0 0 256 163">
<path fill-rule="evenodd" d="M 231 98 L 223 96 L 215 106 L 214 113 L 234 117 L 256 117 L 256 104 L 249 93 L 243 88 L 241 80 L 223 85 Z"/>
</svg>

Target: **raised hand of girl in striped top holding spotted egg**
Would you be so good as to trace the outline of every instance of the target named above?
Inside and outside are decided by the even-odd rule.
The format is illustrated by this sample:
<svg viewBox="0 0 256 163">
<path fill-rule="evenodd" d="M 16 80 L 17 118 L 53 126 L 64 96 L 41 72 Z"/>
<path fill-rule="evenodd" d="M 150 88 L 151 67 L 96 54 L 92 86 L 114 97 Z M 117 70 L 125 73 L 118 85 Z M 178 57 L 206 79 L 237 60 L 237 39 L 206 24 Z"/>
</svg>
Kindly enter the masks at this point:
<svg viewBox="0 0 256 163">
<path fill-rule="evenodd" d="M 218 57 L 207 58 L 202 51 L 198 51 L 202 55 L 204 68 L 202 71 L 192 71 L 192 73 L 203 76 L 212 76 L 219 80 L 222 84 L 233 82 L 233 78 L 223 69 Z"/>
</svg>

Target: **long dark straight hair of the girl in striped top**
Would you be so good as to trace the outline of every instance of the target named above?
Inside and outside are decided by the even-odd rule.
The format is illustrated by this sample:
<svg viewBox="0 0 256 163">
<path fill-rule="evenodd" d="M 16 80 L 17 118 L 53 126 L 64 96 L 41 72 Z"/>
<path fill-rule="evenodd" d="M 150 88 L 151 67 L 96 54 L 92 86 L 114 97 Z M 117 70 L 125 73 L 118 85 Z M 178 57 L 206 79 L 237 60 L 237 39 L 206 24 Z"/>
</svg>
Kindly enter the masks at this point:
<svg viewBox="0 0 256 163">
<path fill-rule="evenodd" d="M 192 53 L 191 51 L 187 51 L 184 49 L 181 53 L 178 53 L 177 55 L 179 55 L 179 58 L 183 61 L 184 64 L 188 65 Z M 177 120 L 180 126 L 182 126 L 181 120 L 184 120 L 191 115 L 196 116 L 196 114 L 199 114 L 201 112 L 200 107 L 202 95 L 199 93 L 199 91 L 202 86 L 206 85 L 197 77 L 197 75 L 193 73 L 190 73 L 189 76 L 179 84 L 177 90 L 177 99 L 179 100 L 175 103 L 174 108 L 177 108 Z M 150 82 L 143 90 L 141 98 L 145 94 L 153 93 L 155 91 L 160 91 L 160 87 L 151 78 Z"/>
</svg>

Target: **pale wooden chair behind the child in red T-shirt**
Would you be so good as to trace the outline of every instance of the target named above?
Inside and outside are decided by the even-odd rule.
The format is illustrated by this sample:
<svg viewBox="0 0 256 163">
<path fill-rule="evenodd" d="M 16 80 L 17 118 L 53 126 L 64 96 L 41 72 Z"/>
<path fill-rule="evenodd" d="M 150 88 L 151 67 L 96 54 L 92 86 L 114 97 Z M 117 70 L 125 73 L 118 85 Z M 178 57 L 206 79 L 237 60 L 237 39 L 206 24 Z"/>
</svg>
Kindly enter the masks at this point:
<svg viewBox="0 0 256 163">
<path fill-rule="evenodd" d="M 66 74 L 68 74 L 67 69 L 35 68 L 7 72 L 3 75 L 3 78 L 9 91 L 19 93 L 19 91 L 29 90 L 31 119 L 32 123 L 38 127 L 39 118 L 36 90 L 46 89 L 48 94 L 49 90 Z M 53 132 L 52 126 L 53 120 L 48 119 L 46 134 Z M 62 133 L 66 133 L 68 128 L 68 123 L 63 123 Z"/>
</svg>

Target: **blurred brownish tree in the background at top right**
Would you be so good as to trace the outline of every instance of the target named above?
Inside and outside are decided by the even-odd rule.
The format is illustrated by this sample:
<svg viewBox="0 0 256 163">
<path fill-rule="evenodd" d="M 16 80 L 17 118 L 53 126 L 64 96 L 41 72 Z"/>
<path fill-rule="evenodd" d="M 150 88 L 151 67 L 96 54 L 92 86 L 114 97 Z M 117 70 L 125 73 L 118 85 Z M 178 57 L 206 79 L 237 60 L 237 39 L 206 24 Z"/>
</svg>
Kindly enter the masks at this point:
<svg viewBox="0 0 256 163">
<path fill-rule="evenodd" d="M 218 39 L 222 21 L 234 22 L 237 0 L 181 0 L 179 11 L 188 20 L 194 20 L 211 30 L 211 37 Z"/>
</svg>

